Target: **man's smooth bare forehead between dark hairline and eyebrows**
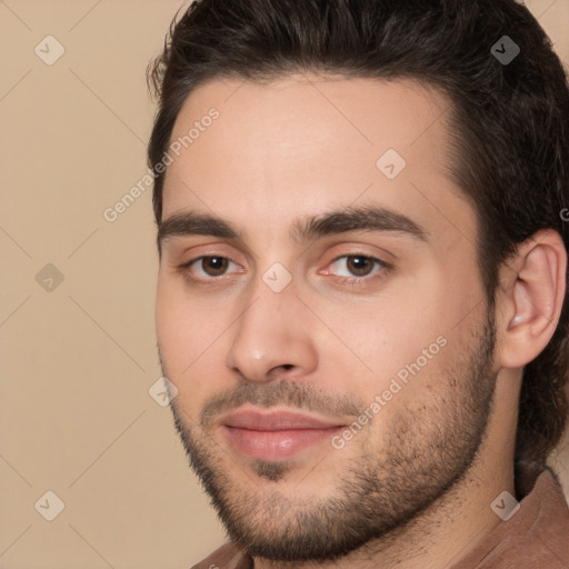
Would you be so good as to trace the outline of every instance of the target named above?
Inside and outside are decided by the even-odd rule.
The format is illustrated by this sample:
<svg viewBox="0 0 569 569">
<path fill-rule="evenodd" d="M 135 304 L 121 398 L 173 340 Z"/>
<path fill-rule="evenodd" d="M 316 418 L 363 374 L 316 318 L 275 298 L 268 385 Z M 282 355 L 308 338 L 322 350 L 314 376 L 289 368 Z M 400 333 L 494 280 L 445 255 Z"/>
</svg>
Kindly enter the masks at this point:
<svg viewBox="0 0 569 569">
<path fill-rule="evenodd" d="M 411 79 L 210 80 L 174 123 L 162 219 L 197 209 L 270 230 L 287 212 L 317 214 L 365 194 L 423 227 L 452 229 L 458 216 L 468 231 L 473 212 L 449 176 L 450 112 L 442 92 Z"/>
</svg>

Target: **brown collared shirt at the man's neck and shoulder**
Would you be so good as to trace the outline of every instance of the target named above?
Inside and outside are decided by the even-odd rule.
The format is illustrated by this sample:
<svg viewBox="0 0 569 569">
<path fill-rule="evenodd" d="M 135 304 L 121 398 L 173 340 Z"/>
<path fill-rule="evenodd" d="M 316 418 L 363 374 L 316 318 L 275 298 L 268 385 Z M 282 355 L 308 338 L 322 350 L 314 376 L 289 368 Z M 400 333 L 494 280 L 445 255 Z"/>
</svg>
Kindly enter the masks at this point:
<svg viewBox="0 0 569 569">
<path fill-rule="evenodd" d="M 449 569 L 569 568 L 569 508 L 557 476 L 536 462 L 518 462 L 516 495 L 520 509 Z M 253 569 L 253 560 L 227 542 L 192 567 L 217 568 Z"/>
</svg>

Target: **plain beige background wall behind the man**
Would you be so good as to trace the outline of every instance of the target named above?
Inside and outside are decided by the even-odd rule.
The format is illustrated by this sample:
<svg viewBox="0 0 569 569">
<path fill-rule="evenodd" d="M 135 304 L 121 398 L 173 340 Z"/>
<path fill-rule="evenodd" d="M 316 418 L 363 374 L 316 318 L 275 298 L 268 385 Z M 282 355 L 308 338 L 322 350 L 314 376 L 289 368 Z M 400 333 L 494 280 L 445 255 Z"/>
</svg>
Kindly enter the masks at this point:
<svg viewBox="0 0 569 569">
<path fill-rule="evenodd" d="M 569 61 L 569 2 L 526 3 Z M 180 6 L 0 0 L 0 569 L 186 568 L 224 540 L 148 392 L 150 189 L 102 214 L 146 172 L 144 69 Z M 64 48 L 52 66 L 34 52 L 49 34 Z M 48 263 L 63 276 L 51 291 L 36 280 Z M 53 521 L 34 508 L 48 490 L 64 502 Z"/>
</svg>

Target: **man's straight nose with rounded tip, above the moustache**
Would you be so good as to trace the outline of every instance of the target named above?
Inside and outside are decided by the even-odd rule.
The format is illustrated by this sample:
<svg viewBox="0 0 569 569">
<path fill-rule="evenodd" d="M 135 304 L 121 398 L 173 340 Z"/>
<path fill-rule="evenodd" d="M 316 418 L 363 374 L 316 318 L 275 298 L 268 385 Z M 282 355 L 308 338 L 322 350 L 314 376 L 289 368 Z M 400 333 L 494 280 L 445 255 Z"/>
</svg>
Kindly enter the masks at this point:
<svg viewBox="0 0 569 569">
<path fill-rule="evenodd" d="M 274 292 L 262 279 L 244 299 L 227 366 L 250 381 L 308 375 L 318 366 L 315 333 L 308 320 L 310 311 L 297 297 L 295 280 Z"/>
</svg>

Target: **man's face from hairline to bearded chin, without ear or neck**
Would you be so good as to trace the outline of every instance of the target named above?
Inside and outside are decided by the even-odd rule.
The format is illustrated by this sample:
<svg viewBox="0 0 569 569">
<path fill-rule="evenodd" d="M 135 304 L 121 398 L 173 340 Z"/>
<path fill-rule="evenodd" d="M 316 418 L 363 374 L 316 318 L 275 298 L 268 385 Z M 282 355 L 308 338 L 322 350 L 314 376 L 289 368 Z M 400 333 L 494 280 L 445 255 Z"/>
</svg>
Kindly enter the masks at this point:
<svg viewBox="0 0 569 569">
<path fill-rule="evenodd" d="M 171 142 L 199 134 L 166 174 L 162 370 L 190 463 L 253 556 L 386 538 L 480 450 L 495 327 L 448 112 L 410 80 L 292 76 L 212 80 L 178 116 Z M 321 425 L 230 417 L 247 410 Z"/>
</svg>

